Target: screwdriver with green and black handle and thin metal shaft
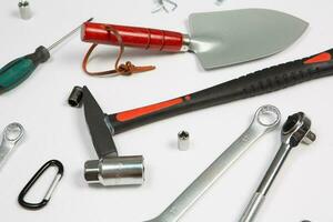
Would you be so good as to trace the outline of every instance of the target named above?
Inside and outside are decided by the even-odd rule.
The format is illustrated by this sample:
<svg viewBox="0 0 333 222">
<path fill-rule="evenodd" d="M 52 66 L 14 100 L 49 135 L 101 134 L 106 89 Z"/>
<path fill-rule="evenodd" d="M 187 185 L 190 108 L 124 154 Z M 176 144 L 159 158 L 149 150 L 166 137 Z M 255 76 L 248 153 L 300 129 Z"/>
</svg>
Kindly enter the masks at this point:
<svg viewBox="0 0 333 222">
<path fill-rule="evenodd" d="M 91 19 L 87 21 L 91 21 Z M 40 63 L 44 63 L 50 59 L 50 51 L 62 43 L 65 39 L 78 32 L 81 24 L 54 42 L 51 47 L 40 46 L 31 54 L 18 58 L 0 69 L 0 94 L 13 89 L 23 82 Z"/>
</svg>

